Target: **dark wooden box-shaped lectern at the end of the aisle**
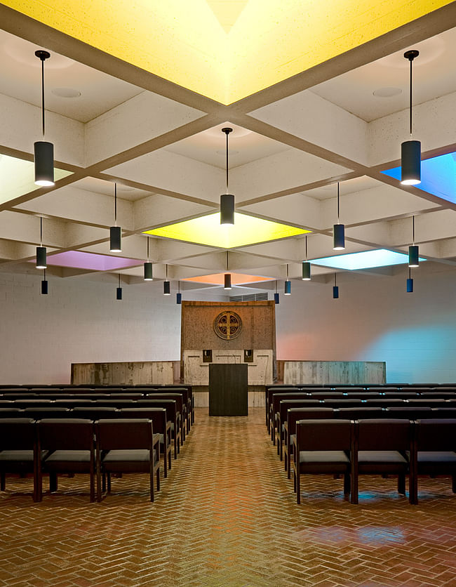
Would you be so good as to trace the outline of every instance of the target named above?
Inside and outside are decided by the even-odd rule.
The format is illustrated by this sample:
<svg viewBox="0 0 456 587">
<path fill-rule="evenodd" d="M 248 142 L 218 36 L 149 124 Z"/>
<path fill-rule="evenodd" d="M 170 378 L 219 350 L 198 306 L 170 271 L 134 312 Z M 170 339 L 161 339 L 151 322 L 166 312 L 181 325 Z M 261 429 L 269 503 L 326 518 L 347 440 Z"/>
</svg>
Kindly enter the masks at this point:
<svg viewBox="0 0 456 587">
<path fill-rule="evenodd" d="M 209 416 L 247 416 L 247 364 L 209 365 Z"/>
</svg>

